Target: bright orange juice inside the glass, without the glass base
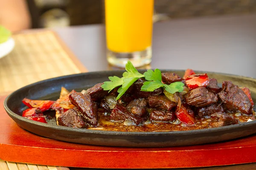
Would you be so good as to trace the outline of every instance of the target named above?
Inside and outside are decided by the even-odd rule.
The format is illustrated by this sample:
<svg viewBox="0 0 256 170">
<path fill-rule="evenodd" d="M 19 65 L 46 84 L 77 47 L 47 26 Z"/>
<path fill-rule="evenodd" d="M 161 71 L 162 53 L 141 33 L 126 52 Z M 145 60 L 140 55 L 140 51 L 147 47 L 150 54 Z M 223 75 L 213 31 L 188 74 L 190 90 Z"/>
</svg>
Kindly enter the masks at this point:
<svg viewBox="0 0 256 170">
<path fill-rule="evenodd" d="M 151 46 L 154 0 L 105 0 L 108 50 L 143 51 Z"/>
</svg>

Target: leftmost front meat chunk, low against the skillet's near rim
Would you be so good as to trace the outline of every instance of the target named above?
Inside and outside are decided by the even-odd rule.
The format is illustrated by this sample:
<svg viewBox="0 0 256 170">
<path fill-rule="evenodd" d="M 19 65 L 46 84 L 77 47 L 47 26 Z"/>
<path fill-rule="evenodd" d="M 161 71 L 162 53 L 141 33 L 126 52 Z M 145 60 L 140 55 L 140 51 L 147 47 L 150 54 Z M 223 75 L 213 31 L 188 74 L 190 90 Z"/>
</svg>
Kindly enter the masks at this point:
<svg viewBox="0 0 256 170">
<path fill-rule="evenodd" d="M 86 123 L 74 109 L 69 109 L 59 116 L 58 124 L 67 127 L 86 128 Z"/>
</svg>

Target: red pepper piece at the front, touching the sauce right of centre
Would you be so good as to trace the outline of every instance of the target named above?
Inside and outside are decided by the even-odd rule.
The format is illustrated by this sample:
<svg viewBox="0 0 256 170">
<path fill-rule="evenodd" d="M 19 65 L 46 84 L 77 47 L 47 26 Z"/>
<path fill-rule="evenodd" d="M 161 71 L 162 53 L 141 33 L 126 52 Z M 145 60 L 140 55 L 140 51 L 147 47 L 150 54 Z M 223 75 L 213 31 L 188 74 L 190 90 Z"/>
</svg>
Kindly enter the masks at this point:
<svg viewBox="0 0 256 170">
<path fill-rule="evenodd" d="M 195 124 L 195 119 L 191 115 L 189 115 L 187 109 L 183 105 L 181 105 L 178 111 L 175 111 L 175 115 L 180 120 L 180 122 L 184 122 L 188 125 Z"/>
</svg>

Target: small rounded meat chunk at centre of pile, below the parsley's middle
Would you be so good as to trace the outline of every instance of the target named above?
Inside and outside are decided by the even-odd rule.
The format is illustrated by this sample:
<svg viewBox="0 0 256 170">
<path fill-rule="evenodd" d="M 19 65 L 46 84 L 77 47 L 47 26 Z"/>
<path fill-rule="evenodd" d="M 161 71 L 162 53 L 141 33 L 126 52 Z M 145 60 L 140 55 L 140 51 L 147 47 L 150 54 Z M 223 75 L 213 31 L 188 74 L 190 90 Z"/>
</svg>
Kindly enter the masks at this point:
<svg viewBox="0 0 256 170">
<path fill-rule="evenodd" d="M 147 100 L 146 99 L 134 99 L 127 105 L 128 111 L 138 117 L 142 117 L 147 113 L 146 107 Z"/>
</svg>

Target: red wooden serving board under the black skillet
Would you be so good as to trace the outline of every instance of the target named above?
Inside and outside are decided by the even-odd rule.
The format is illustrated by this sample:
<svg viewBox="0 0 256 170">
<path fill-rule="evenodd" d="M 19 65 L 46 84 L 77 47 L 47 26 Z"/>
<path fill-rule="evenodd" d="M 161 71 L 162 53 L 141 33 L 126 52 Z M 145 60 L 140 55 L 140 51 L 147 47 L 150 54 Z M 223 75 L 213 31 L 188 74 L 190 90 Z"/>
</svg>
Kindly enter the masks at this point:
<svg viewBox="0 0 256 170">
<path fill-rule="evenodd" d="M 0 159 L 30 164 L 90 168 L 207 167 L 256 162 L 256 135 L 186 147 L 128 148 L 47 139 L 19 127 L 0 96 Z"/>
</svg>

